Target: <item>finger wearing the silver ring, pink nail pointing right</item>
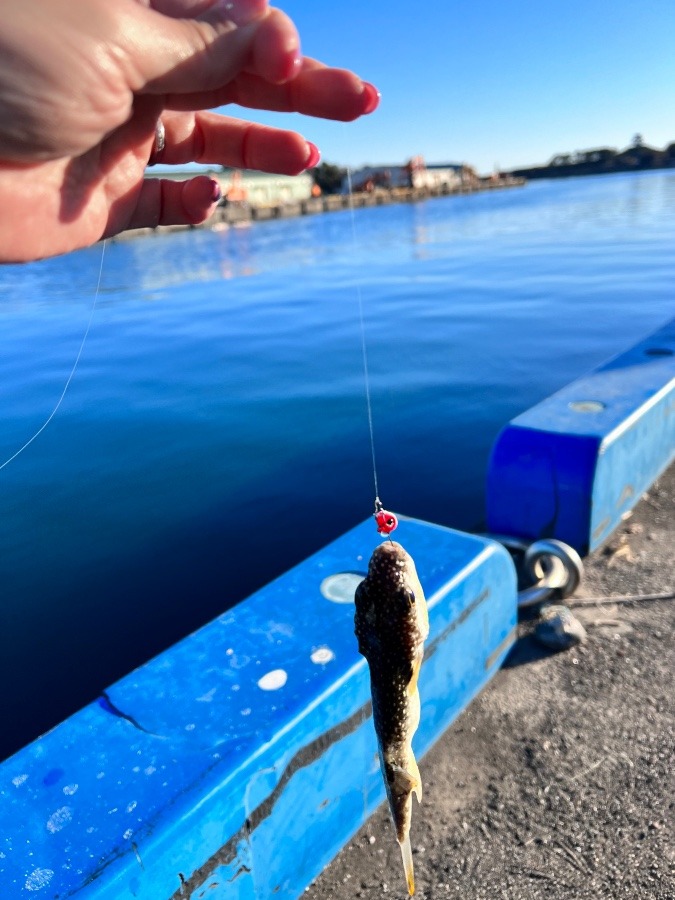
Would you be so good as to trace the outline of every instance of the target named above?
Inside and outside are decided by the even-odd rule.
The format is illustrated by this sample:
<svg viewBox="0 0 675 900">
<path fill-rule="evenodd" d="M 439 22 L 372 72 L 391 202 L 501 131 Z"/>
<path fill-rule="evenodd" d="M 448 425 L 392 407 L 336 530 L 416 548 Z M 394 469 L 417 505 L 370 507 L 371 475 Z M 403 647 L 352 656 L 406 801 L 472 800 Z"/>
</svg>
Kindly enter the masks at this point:
<svg viewBox="0 0 675 900">
<path fill-rule="evenodd" d="M 166 112 L 162 122 L 165 146 L 154 161 L 163 165 L 199 162 L 298 175 L 319 161 L 314 145 L 294 131 L 209 112 Z"/>
</svg>

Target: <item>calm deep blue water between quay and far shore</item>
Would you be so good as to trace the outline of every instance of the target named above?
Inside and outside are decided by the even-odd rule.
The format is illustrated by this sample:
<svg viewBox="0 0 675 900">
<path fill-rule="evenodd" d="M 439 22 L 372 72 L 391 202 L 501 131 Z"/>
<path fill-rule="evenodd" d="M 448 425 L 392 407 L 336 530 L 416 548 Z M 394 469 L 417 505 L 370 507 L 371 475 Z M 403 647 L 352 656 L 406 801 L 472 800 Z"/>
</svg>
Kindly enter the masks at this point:
<svg viewBox="0 0 675 900">
<path fill-rule="evenodd" d="M 100 260 L 0 268 L 0 462 Z M 357 290 L 380 495 L 472 529 L 499 428 L 674 285 L 675 172 L 109 245 L 0 471 L 2 753 L 370 514 Z"/>
</svg>

